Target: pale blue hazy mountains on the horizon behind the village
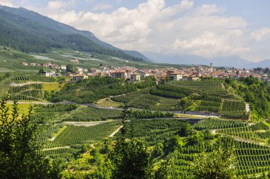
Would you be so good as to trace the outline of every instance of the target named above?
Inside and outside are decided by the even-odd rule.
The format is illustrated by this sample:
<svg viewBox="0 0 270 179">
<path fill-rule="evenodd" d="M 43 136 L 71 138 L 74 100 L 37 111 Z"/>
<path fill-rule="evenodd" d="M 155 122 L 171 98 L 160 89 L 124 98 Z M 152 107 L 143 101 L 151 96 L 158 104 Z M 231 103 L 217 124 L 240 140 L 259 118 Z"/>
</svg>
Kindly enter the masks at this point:
<svg viewBox="0 0 270 179">
<path fill-rule="evenodd" d="M 216 67 L 237 67 L 237 68 L 253 68 L 253 67 L 270 67 L 270 60 L 263 60 L 259 63 L 252 63 L 237 56 L 204 58 L 196 55 L 163 55 L 158 53 L 141 52 L 150 58 L 153 62 L 173 63 L 186 65 L 210 65 L 213 63 Z"/>
</svg>

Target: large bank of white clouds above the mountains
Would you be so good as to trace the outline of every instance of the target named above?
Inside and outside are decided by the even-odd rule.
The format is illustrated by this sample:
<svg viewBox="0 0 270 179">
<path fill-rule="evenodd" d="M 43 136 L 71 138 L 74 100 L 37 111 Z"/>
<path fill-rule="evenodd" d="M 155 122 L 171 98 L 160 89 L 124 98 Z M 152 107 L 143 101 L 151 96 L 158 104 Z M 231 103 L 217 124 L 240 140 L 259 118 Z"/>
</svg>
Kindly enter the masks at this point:
<svg viewBox="0 0 270 179">
<path fill-rule="evenodd" d="M 86 0 L 93 1 L 93 0 Z M 0 0 L 1 2 L 1 0 Z M 250 33 L 249 23 L 239 16 L 228 16 L 223 6 L 179 1 L 166 6 L 165 0 L 148 0 L 134 9 L 111 9 L 98 4 L 92 11 L 74 11 L 70 1 L 50 1 L 45 9 L 33 9 L 50 18 L 91 31 L 107 43 L 127 49 L 156 53 L 202 55 L 205 57 L 239 55 L 248 60 L 269 58 L 269 44 L 257 46 L 252 41 L 270 36 L 270 28 Z M 259 55 L 257 55 L 260 53 Z"/>
</svg>

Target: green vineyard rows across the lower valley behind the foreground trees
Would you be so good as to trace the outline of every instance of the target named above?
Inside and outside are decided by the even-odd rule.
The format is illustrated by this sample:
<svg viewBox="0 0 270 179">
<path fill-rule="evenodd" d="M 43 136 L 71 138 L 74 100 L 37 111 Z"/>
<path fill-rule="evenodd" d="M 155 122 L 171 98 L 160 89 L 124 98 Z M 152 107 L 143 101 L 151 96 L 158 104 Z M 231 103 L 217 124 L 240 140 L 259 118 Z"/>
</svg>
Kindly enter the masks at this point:
<svg viewBox="0 0 270 179">
<path fill-rule="evenodd" d="M 149 90 L 143 89 L 139 92 L 148 93 Z M 168 101 L 180 100 L 155 96 L 153 94 L 143 95 Z M 130 97 L 134 96 L 131 94 Z M 216 100 L 216 98 L 211 97 L 208 99 Z M 238 105 L 236 101 L 232 102 L 229 100 L 225 102 L 227 102 L 225 109 L 228 109 L 228 111 Z M 134 102 L 133 104 L 136 103 Z M 21 109 L 22 112 L 26 112 L 29 104 L 20 105 L 23 107 Z M 150 111 L 141 111 L 140 115 L 146 117 L 150 113 Z M 72 163 L 77 161 L 83 161 L 82 163 L 84 163 L 77 163 L 77 168 L 83 168 L 84 165 L 87 165 L 89 170 L 99 170 L 98 166 L 91 166 L 92 161 L 85 163 L 85 155 L 81 154 L 92 150 L 90 144 L 94 143 L 95 147 L 102 151 L 101 155 L 106 157 L 104 140 L 111 141 L 112 144 L 109 145 L 113 146 L 114 140 L 121 136 L 120 132 L 118 132 L 112 138 L 109 138 L 121 126 L 120 117 L 121 110 L 97 109 L 77 104 L 35 104 L 33 119 L 42 119 L 43 121 L 43 125 L 40 126 L 42 132 L 38 136 L 38 143 L 42 145 L 39 153 L 60 162 L 62 166 L 70 168 L 70 170 L 75 167 L 72 166 Z M 190 117 L 194 118 L 194 116 Z M 102 121 L 114 118 L 117 120 Z M 65 123 L 66 120 L 70 121 L 70 123 Z M 75 126 L 76 121 L 82 122 L 76 124 L 79 126 Z M 87 126 L 83 121 L 93 122 L 91 122 L 90 126 Z M 98 123 L 95 124 L 95 121 Z M 190 178 L 190 166 L 195 158 L 204 150 L 212 151 L 216 147 L 215 143 L 218 140 L 222 141 L 224 148 L 234 146 L 234 155 L 237 159 L 237 175 L 252 176 L 254 174 L 269 173 L 270 171 L 269 126 L 270 124 L 266 121 L 250 125 L 247 121 L 235 119 L 202 119 L 197 124 L 190 125 L 177 118 L 130 118 L 126 121 L 124 131 L 126 139 L 136 138 L 147 143 L 148 151 L 154 157 L 153 165 L 157 168 L 161 161 L 175 161 L 171 168 L 168 168 L 171 176 L 179 177 L 181 175 L 185 176 L 185 178 Z M 170 144 L 174 136 L 180 137 L 181 141 L 181 147 L 176 151 L 175 147 Z M 156 147 L 161 145 L 160 143 L 163 143 L 163 152 L 157 154 Z M 175 173 L 175 171 L 178 172 Z M 83 170 L 77 170 L 77 172 L 83 173 Z"/>
</svg>

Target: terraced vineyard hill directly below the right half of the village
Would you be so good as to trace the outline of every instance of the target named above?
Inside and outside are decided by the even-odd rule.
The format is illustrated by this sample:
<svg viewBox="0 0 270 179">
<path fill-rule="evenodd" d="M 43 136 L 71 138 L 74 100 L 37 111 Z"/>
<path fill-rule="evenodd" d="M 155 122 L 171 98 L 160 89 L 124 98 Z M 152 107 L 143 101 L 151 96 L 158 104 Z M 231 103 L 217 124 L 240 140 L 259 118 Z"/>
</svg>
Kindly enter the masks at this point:
<svg viewBox="0 0 270 179">
<path fill-rule="evenodd" d="M 238 98 L 221 80 L 201 80 L 169 81 L 111 99 L 141 109 L 212 112 L 230 119 L 249 119 L 245 103 Z"/>
</svg>

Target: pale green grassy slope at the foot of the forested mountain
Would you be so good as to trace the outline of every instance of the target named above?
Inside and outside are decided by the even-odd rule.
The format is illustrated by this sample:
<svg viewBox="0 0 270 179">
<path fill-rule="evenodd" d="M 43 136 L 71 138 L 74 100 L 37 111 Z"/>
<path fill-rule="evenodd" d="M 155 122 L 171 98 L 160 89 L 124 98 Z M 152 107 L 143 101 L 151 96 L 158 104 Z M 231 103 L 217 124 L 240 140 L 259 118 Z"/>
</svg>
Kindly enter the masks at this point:
<svg viewBox="0 0 270 179">
<path fill-rule="evenodd" d="M 32 55 L 40 55 L 48 60 L 41 60 L 34 58 Z M 107 66 L 131 66 L 131 67 L 182 67 L 183 65 L 170 65 L 162 63 L 142 63 L 114 58 L 109 55 L 100 55 L 89 53 L 74 53 L 73 50 L 68 49 L 53 49 L 49 53 L 22 53 L 18 50 L 3 50 L 0 46 L 0 72 L 17 72 L 17 73 L 33 73 L 38 72 L 41 67 L 23 66 L 21 63 L 53 63 L 58 65 L 70 64 L 68 60 L 78 58 L 80 63 L 71 63 L 76 67 L 84 67 L 90 69 L 91 67 L 99 67 L 100 64 Z M 52 70 L 45 68 L 44 70 Z"/>
</svg>

